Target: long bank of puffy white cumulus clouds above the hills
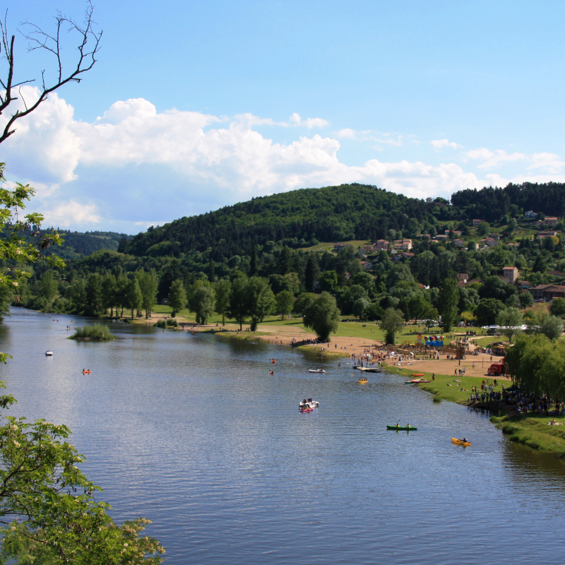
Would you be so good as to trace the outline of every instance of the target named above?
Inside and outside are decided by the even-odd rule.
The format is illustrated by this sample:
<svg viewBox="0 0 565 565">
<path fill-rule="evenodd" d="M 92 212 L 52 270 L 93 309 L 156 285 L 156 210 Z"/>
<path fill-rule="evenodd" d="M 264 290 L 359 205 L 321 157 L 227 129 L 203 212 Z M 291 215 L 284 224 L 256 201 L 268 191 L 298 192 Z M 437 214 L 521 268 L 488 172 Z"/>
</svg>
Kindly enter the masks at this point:
<svg viewBox="0 0 565 565">
<path fill-rule="evenodd" d="M 127 218 L 134 230 L 134 225 L 154 223 L 153 218 L 173 220 L 304 186 L 364 182 L 425 197 L 449 196 L 489 182 L 453 163 L 371 159 L 349 166 L 338 158 L 338 138 L 364 136 L 400 146 L 405 138 L 399 134 L 342 129 L 334 136 L 309 133 L 292 143 L 275 143 L 256 131 L 262 125 L 315 129 L 328 122 L 299 114 L 275 122 L 254 114 L 226 118 L 177 109 L 157 112 L 151 102 L 137 98 L 115 102 L 88 123 L 74 119 L 71 105 L 52 95 L 20 120 L 2 149 L 12 177 L 40 184 L 40 209 L 47 210 L 47 222 L 61 227 L 101 222 L 115 226 L 117 218 Z M 486 168 L 494 166 L 492 160 L 511 161 L 521 155 L 482 148 L 465 157 L 482 160 L 479 167 Z M 532 169 L 562 165 L 550 153 L 530 160 Z"/>
</svg>

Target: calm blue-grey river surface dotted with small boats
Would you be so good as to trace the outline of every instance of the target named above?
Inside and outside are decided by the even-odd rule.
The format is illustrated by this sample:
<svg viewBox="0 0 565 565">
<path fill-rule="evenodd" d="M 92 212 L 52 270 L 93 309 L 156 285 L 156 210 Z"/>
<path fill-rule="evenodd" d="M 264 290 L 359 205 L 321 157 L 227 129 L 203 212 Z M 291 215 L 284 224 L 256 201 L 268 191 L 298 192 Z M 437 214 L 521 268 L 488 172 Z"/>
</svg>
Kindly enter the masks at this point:
<svg viewBox="0 0 565 565">
<path fill-rule="evenodd" d="M 484 415 L 288 347 L 122 323 L 76 343 L 66 326 L 85 320 L 54 320 L 15 309 L 0 326 L 11 412 L 69 425 L 112 515 L 153 520 L 167 564 L 563 559 L 565 465 Z M 398 419 L 417 432 L 387 432 Z"/>
</svg>

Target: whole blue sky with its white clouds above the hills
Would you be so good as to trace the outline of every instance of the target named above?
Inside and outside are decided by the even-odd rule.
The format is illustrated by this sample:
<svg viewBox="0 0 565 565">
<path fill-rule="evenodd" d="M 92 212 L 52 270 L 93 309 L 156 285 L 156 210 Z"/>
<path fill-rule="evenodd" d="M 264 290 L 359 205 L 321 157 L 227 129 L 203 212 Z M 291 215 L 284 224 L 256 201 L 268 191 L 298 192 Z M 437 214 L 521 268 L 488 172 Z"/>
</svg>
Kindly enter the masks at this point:
<svg viewBox="0 0 565 565">
<path fill-rule="evenodd" d="M 84 6 L 5 4 L 11 29 Z M 564 16 L 557 1 L 96 1 L 99 62 L 0 158 L 48 223 L 129 233 L 304 186 L 565 182 Z M 17 41 L 20 77 L 49 69 Z"/>
</svg>

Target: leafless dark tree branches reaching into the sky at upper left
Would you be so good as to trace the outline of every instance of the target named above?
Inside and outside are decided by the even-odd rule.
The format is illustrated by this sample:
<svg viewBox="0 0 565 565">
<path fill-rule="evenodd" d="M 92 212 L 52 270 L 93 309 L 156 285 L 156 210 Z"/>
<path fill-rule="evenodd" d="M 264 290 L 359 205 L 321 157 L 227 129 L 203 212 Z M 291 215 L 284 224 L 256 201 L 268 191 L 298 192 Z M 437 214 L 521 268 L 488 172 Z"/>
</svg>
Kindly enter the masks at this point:
<svg viewBox="0 0 565 565">
<path fill-rule="evenodd" d="M 100 40 L 102 39 L 102 30 L 98 31 L 95 28 L 95 21 L 93 20 L 94 7 L 91 0 L 87 1 L 85 17 L 83 23 L 76 23 L 75 20 L 64 16 L 61 12 L 57 13 L 55 20 L 57 25 L 55 27 L 55 33 L 49 35 L 49 33 L 44 32 L 39 26 L 34 23 L 25 22 L 24 26 L 29 30 L 27 33 L 23 33 L 23 37 L 28 40 L 28 52 L 35 51 L 37 49 L 45 49 L 47 52 L 51 53 L 55 59 L 57 59 L 56 69 L 57 69 L 57 79 L 51 85 L 47 85 L 45 82 L 45 71 L 41 73 L 41 83 L 40 96 L 37 101 L 30 106 L 24 102 L 25 109 L 16 109 L 13 114 L 10 115 L 4 130 L 0 129 L 0 143 L 6 141 L 8 137 L 16 131 L 13 128 L 16 120 L 31 114 L 37 107 L 39 107 L 42 102 L 47 100 L 49 94 L 61 88 L 61 86 L 66 83 L 80 83 L 82 78 L 81 74 L 93 68 L 96 63 L 96 54 L 100 50 Z M 8 34 L 8 27 L 6 25 L 6 18 L 8 12 L 4 16 L 4 21 L 0 20 L 0 30 L 2 34 L 0 51 L 4 48 L 3 58 L 6 59 L 8 64 L 8 69 L 6 76 L 0 78 L 0 84 L 4 89 L 4 92 L 0 93 L 0 115 L 8 109 L 8 107 L 15 101 L 18 100 L 18 96 L 14 95 L 13 89 L 19 87 L 20 85 L 29 84 L 35 82 L 35 79 L 28 79 L 25 81 L 20 81 L 16 84 L 13 83 L 14 75 L 14 52 L 13 46 L 16 40 L 16 36 L 10 36 Z M 71 71 L 66 73 L 64 71 L 62 54 L 62 42 L 61 42 L 61 32 L 65 31 L 68 33 L 78 34 L 78 46 L 76 50 L 78 51 L 78 58 L 73 63 Z M 18 90 L 21 97 L 21 92 Z M 22 99 L 23 100 L 23 99 Z"/>
</svg>

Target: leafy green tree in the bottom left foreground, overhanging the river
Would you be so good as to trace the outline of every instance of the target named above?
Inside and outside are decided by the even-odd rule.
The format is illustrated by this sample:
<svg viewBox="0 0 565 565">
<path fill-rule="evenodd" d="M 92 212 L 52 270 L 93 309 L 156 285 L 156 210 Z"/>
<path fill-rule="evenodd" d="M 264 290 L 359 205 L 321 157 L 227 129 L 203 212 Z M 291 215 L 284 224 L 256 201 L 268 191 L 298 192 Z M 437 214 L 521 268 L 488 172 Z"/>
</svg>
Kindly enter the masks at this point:
<svg viewBox="0 0 565 565">
<path fill-rule="evenodd" d="M 1 397 L 6 408 L 13 403 Z M 0 558 L 18 563 L 159 564 L 164 549 L 139 533 L 143 518 L 117 525 L 110 506 L 78 465 L 69 429 L 37 420 L 1 417 L 0 516 L 8 523 Z"/>
</svg>

